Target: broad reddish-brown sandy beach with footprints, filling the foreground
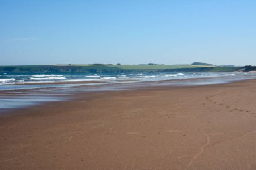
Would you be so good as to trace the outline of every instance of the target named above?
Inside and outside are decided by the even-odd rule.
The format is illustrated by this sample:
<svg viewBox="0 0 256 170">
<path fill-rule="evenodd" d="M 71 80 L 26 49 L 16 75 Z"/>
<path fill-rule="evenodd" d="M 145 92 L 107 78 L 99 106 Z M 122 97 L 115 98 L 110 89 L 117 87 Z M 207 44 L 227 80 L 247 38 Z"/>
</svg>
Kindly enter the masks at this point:
<svg viewBox="0 0 256 170">
<path fill-rule="evenodd" d="M 0 116 L 0 169 L 256 169 L 256 80 L 79 94 Z"/>
</svg>

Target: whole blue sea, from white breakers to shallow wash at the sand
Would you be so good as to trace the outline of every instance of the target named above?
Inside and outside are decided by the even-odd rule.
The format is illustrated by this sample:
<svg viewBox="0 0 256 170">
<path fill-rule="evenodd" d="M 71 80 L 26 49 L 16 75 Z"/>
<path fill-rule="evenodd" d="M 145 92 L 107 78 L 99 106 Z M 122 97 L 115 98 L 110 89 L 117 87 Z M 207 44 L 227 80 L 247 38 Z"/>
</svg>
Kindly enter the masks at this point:
<svg viewBox="0 0 256 170">
<path fill-rule="evenodd" d="M 45 102 L 71 99 L 75 93 L 210 85 L 255 78 L 256 73 L 244 72 L 0 73 L 0 114 Z"/>
</svg>

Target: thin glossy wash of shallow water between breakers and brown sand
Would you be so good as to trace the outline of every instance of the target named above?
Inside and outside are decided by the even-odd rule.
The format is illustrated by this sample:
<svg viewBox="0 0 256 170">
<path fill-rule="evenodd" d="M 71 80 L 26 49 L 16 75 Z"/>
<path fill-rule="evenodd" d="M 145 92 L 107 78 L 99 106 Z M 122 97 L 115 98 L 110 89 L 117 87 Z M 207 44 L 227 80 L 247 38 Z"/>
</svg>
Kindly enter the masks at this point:
<svg viewBox="0 0 256 170">
<path fill-rule="evenodd" d="M 197 87 L 197 86 L 205 86 L 205 85 L 222 85 L 222 84 L 228 84 L 228 83 L 236 83 L 236 82 L 243 82 L 243 81 L 249 81 L 253 79 L 245 79 L 245 80 L 233 80 L 233 81 L 227 81 L 225 83 L 205 83 L 200 84 L 200 81 L 207 81 L 212 80 L 212 78 L 192 78 L 192 79 L 174 79 L 174 80 L 162 80 L 162 81 L 137 81 L 137 82 L 115 82 L 115 83 L 103 83 L 102 84 L 94 84 L 94 82 L 73 82 L 73 83 L 63 83 L 63 85 L 76 85 L 78 86 L 67 86 L 67 87 L 41 87 L 41 88 L 33 88 L 33 89 L 14 89 L 14 90 L 1 90 L 0 91 L 0 99 L 3 99 L 5 97 L 8 97 L 9 99 L 14 99 L 15 102 L 17 102 L 16 97 L 20 99 L 18 102 L 24 102 L 24 105 L 20 105 L 19 107 L 15 107 L 15 103 L 13 103 L 13 107 L 11 108 L 1 108 L 0 114 L 7 114 L 9 112 L 12 112 L 12 110 L 19 110 L 24 108 L 30 108 L 33 105 L 44 105 L 51 102 L 57 102 L 57 101 L 71 101 L 75 99 L 75 95 L 78 93 L 106 93 L 108 91 L 126 91 L 126 90 L 141 90 L 141 89 L 155 89 L 155 88 L 179 88 L 179 87 Z M 193 82 L 197 82 L 193 84 Z M 179 84 L 181 82 L 181 84 Z M 188 82 L 188 84 L 186 84 Z M 174 84 L 172 84 L 174 83 Z M 59 85 L 59 83 L 50 83 Z M 37 85 L 45 85 L 45 83 L 40 83 Z M 46 84 L 47 85 L 47 84 Z M 89 86 L 88 86 L 89 85 Z M 113 85 L 113 87 L 111 87 Z M 117 89 L 115 89 L 115 86 Z M 86 89 L 86 88 L 92 88 Z M 110 87 L 110 89 L 108 89 Z M 64 89 L 63 89 L 64 88 Z M 67 90 L 65 90 L 65 88 Z M 103 90 L 101 89 L 103 88 Z M 105 88 L 105 89 L 104 89 Z M 72 91 L 72 92 L 70 92 Z M 63 94 L 65 94 L 65 97 L 63 97 Z M 34 104 L 30 104 L 28 102 L 33 102 L 32 100 L 28 101 L 26 97 L 35 97 L 38 100 L 41 100 L 42 97 L 46 97 L 45 99 L 42 99 L 40 102 L 35 102 Z M 7 101 L 11 102 L 11 101 Z M 27 104 L 26 104 L 27 103 Z M 1 104 L 1 103 L 0 103 Z"/>
</svg>

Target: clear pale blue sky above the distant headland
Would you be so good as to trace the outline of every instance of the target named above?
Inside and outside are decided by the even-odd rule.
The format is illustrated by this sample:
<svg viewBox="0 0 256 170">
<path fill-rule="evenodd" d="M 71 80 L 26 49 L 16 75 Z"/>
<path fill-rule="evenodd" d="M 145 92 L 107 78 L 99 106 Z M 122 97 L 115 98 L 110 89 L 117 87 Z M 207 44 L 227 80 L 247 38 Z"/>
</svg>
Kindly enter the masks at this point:
<svg viewBox="0 0 256 170">
<path fill-rule="evenodd" d="M 0 65 L 256 65 L 255 0 L 0 0 Z"/>
</svg>

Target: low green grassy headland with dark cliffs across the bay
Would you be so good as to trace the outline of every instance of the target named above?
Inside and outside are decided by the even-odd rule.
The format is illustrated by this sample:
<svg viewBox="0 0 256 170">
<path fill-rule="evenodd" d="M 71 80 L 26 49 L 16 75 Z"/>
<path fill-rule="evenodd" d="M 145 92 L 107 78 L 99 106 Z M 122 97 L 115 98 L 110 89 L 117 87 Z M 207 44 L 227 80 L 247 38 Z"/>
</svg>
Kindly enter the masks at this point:
<svg viewBox="0 0 256 170">
<path fill-rule="evenodd" d="M 241 67 L 209 65 L 22 65 L 0 66 L 0 73 L 117 73 L 136 71 L 236 71 Z"/>
</svg>

